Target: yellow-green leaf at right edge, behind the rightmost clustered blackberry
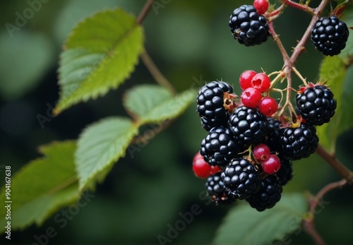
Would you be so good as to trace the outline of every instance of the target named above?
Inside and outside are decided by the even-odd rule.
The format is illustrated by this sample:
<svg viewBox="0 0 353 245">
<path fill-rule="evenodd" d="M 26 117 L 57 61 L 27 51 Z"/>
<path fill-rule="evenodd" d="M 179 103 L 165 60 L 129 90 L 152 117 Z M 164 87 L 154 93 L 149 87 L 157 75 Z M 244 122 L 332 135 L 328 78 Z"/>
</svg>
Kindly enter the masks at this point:
<svg viewBox="0 0 353 245">
<path fill-rule="evenodd" d="M 337 100 L 337 109 L 335 115 L 328 124 L 317 127 L 317 134 L 320 143 L 330 153 L 335 153 L 337 137 L 341 133 L 353 127 L 353 114 L 347 113 L 353 104 L 353 84 L 347 76 L 347 59 L 342 56 L 326 57 L 323 59 L 320 68 L 320 77 L 332 90 L 335 100 Z"/>
</svg>

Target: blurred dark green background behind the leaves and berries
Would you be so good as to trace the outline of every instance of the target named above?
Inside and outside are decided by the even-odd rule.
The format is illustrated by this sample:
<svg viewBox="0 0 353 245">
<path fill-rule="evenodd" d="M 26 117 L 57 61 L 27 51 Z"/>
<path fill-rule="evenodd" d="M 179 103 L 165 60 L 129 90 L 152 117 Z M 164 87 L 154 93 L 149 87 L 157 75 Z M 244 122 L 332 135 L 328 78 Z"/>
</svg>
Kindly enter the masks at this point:
<svg viewBox="0 0 353 245">
<path fill-rule="evenodd" d="M 93 121 L 126 115 L 121 106 L 124 90 L 139 83 L 154 83 L 140 62 L 119 90 L 52 118 L 59 91 L 56 73 L 59 54 L 71 28 L 85 16 L 104 8 L 119 6 L 137 16 L 145 1 L 51 0 L 31 6 L 35 2 L 38 1 L 0 3 L 0 165 L 11 165 L 13 173 L 40 157 L 38 145 L 78 138 L 80 131 Z M 178 91 L 222 79 L 234 85 L 239 93 L 237 80 L 242 71 L 263 69 L 271 73 L 282 68 L 282 56 L 272 40 L 258 47 L 244 47 L 229 32 L 227 22 L 233 9 L 252 1 L 156 2 L 159 4 L 143 23 L 145 46 Z M 317 3 L 312 2 L 313 6 Z M 308 14 L 291 8 L 275 20 L 275 30 L 288 51 L 297 44 L 309 20 Z M 16 21 L 20 27 L 16 27 Z M 308 43 L 297 69 L 309 81 L 316 81 L 322 58 Z M 294 83 L 299 85 L 295 79 Z M 151 127 L 146 126 L 141 132 Z M 35 236 L 45 234 L 47 227 L 54 227 L 57 232 L 49 244 L 158 244 L 157 236 L 167 237 L 168 224 L 174 226 L 180 219 L 178 213 L 190 211 L 193 204 L 201 206 L 201 214 L 179 232 L 173 243 L 210 244 L 222 217 L 232 207 L 206 205 L 200 198 L 205 181 L 193 176 L 191 164 L 205 134 L 193 105 L 148 145 L 127 153 L 104 183 L 97 186 L 95 196 L 67 225 L 61 227 L 62 223 L 54 220 L 59 211 L 42 227 L 32 225 L 24 231 L 13 231 L 11 244 L 33 244 L 37 242 Z M 337 146 L 337 157 L 350 169 L 353 169 L 352 143 L 353 131 L 349 131 L 340 137 Z M 284 192 L 316 193 L 325 184 L 339 179 L 327 163 L 313 155 L 294 162 L 294 179 Z M 329 244 L 353 244 L 352 194 L 352 187 L 347 186 L 328 193 L 325 201 L 329 204 L 316 215 L 318 231 Z M 1 240 L 1 244 L 6 243 L 4 236 Z M 290 243 L 312 244 L 312 241 L 305 232 L 299 232 L 290 237 Z"/>
</svg>

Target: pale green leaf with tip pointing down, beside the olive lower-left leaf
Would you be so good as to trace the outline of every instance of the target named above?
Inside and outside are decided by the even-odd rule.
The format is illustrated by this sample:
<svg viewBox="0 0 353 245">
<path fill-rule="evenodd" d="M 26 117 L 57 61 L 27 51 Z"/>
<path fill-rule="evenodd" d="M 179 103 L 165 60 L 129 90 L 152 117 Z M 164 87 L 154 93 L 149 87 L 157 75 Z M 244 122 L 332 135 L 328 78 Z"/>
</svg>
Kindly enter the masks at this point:
<svg viewBox="0 0 353 245">
<path fill-rule="evenodd" d="M 102 181 L 137 134 L 138 126 L 124 117 L 109 117 L 88 126 L 78 139 L 75 155 L 80 190 Z"/>
</svg>

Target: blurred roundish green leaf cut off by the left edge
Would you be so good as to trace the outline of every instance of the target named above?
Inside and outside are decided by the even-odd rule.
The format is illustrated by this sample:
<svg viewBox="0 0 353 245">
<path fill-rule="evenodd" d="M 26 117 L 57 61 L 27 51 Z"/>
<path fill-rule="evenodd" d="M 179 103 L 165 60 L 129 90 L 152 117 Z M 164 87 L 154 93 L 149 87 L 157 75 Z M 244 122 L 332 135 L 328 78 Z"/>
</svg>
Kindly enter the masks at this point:
<svg viewBox="0 0 353 245">
<path fill-rule="evenodd" d="M 6 100 L 16 100 L 35 88 L 56 62 L 49 37 L 26 30 L 1 32 L 0 54 L 0 95 Z"/>
</svg>

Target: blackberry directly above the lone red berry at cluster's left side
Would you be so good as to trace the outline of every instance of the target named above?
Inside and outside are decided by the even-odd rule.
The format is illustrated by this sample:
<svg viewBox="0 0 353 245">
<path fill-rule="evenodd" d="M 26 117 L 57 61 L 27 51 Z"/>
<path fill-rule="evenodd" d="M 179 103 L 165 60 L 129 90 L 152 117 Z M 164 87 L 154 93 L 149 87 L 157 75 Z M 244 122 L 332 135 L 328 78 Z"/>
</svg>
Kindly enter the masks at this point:
<svg viewBox="0 0 353 245">
<path fill-rule="evenodd" d="M 225 167 L 238 151 L 232 133 L 224 127 L 215 127 L 201 141 L 201 155 L 209 165 Z"/>
</svg>

